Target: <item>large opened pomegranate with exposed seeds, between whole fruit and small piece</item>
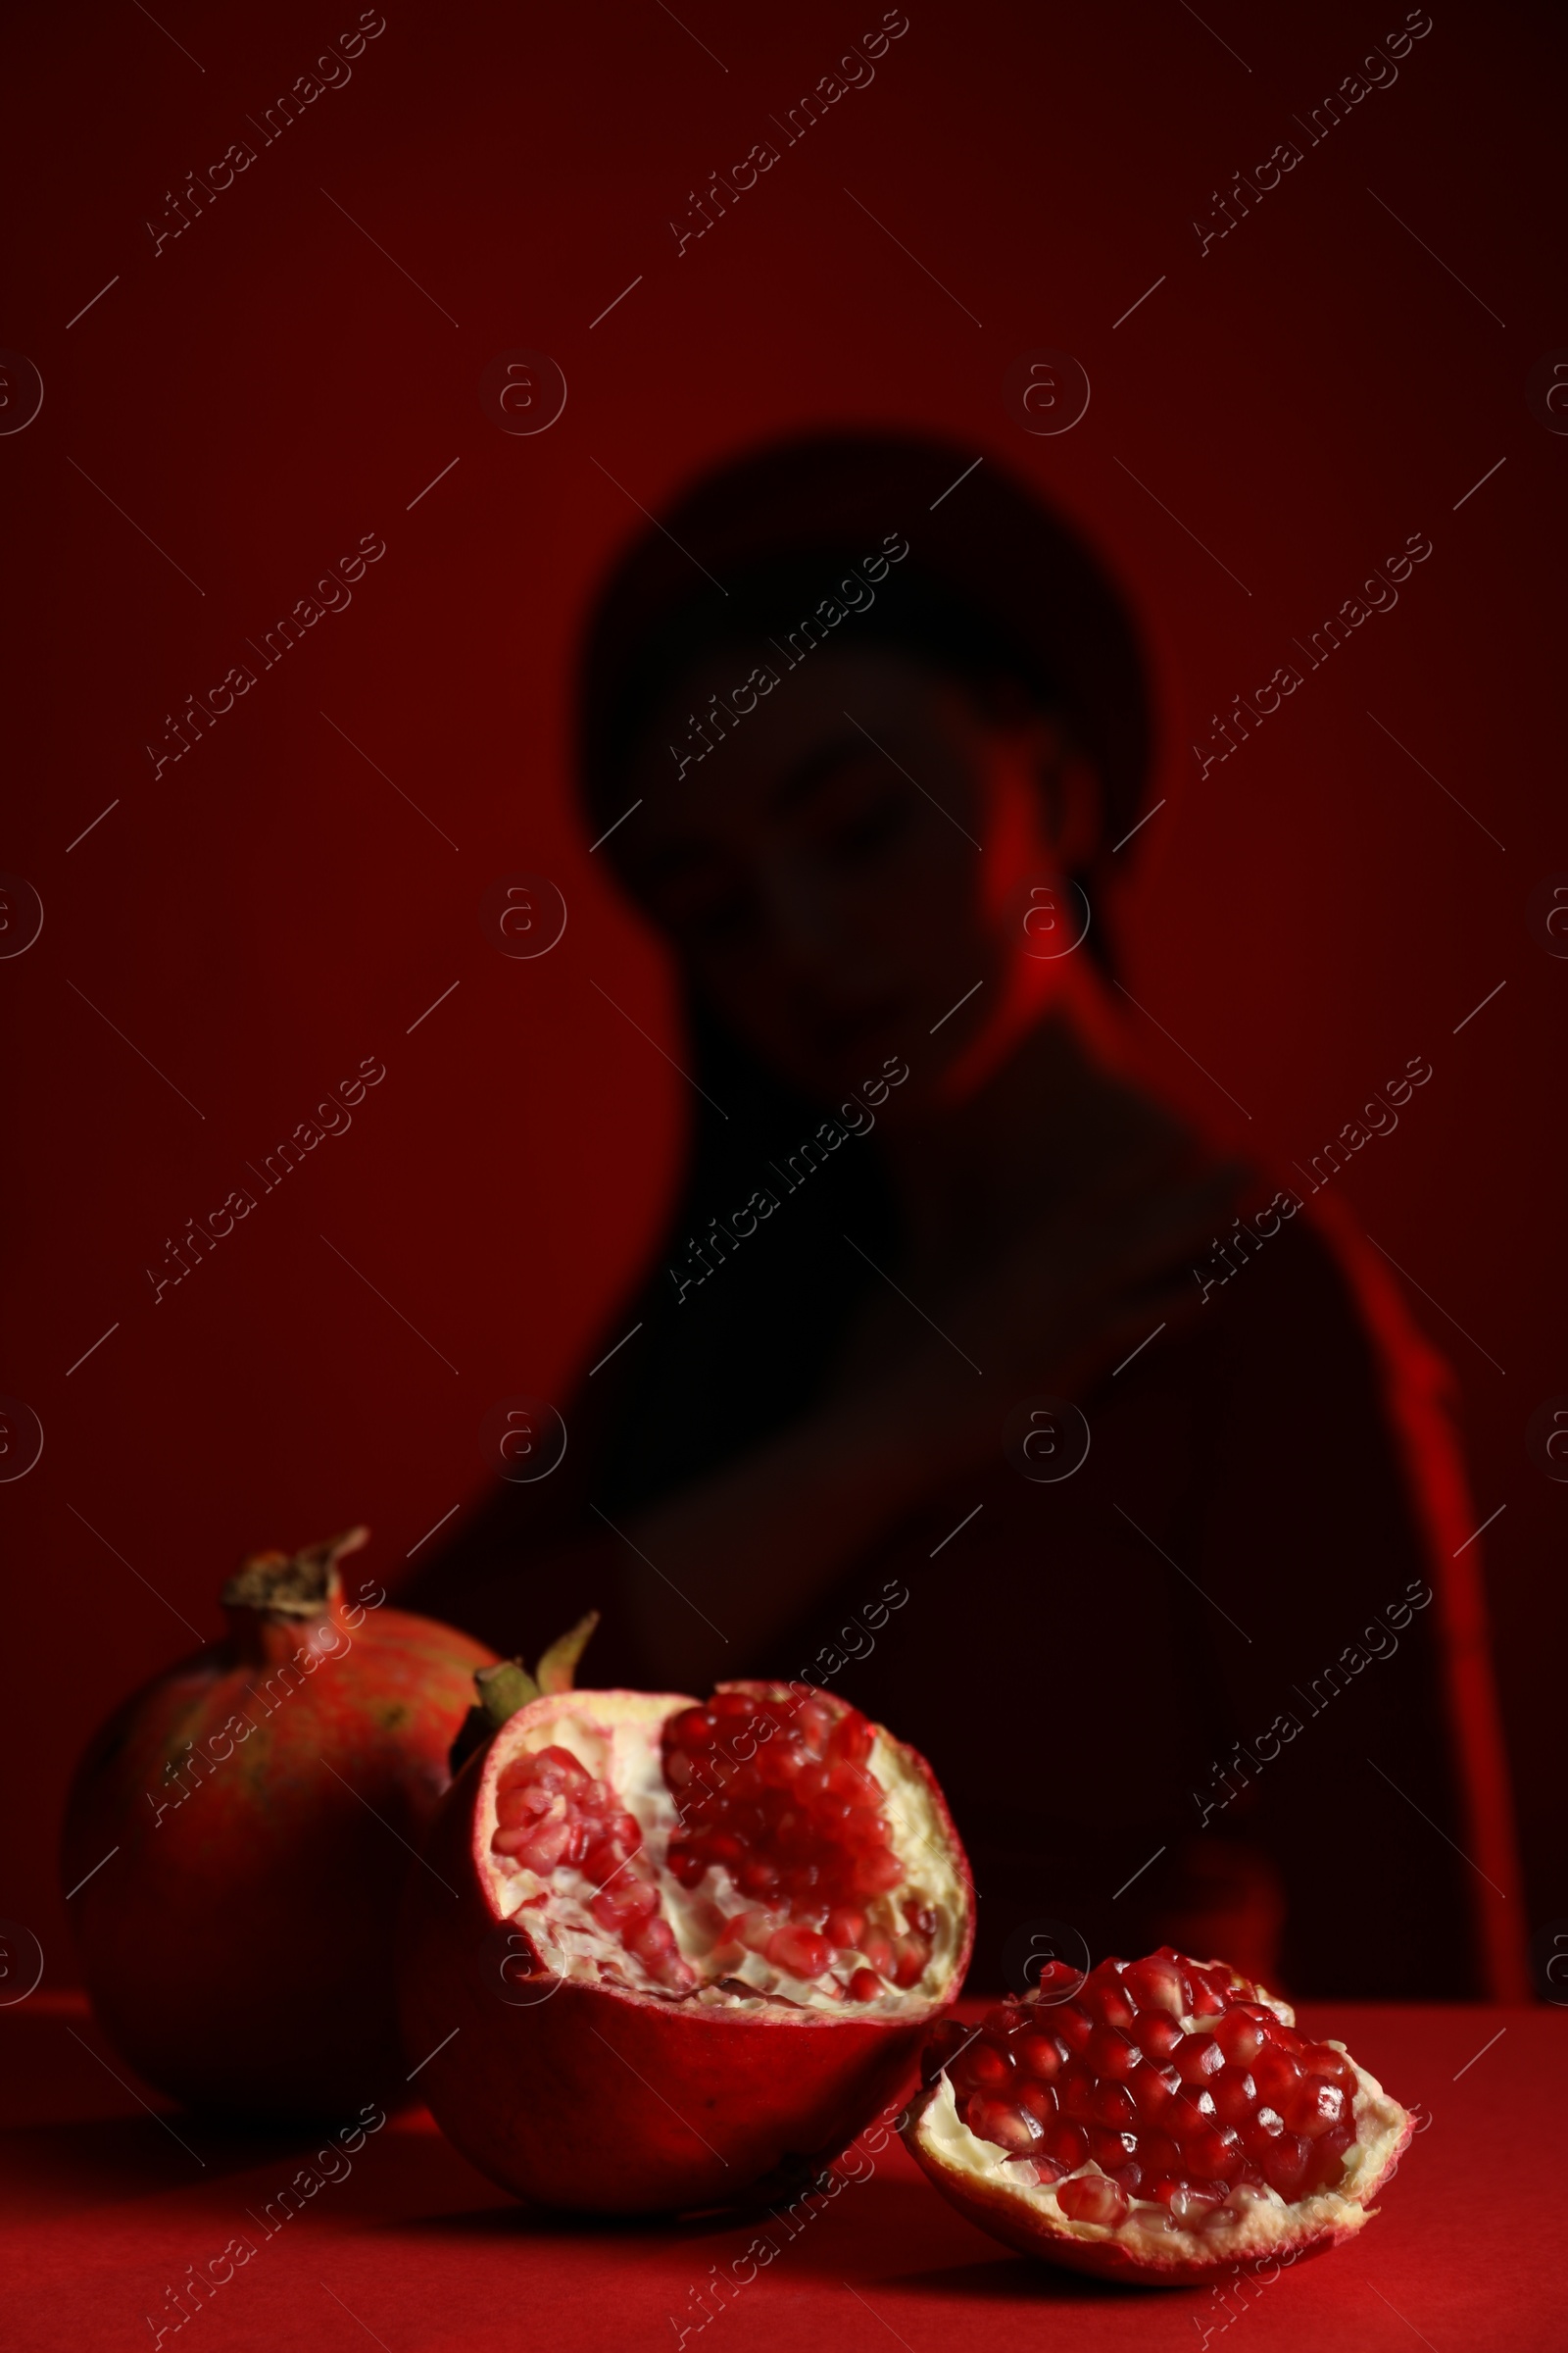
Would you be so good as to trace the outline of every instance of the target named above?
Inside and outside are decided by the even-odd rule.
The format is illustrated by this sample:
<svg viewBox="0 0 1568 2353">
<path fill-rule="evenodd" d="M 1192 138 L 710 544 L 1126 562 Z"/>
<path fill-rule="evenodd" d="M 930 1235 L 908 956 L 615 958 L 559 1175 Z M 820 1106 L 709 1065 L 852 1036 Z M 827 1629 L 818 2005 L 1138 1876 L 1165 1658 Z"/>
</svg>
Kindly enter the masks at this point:
<svg viewBox="0 0 1568 2353">
<path fill-rule="evenodd" d="M 480 1678 L 498 1713 L 510 1673 Z M 404 1892 L 421 2092 L 541 2205 L 799 2186 L 903 2092 L 964 1979 L 971 1880 L 931 1769 L 809 1685 L 571 1692 L 555 1654 L 541 1682 Z"/>
</svg>

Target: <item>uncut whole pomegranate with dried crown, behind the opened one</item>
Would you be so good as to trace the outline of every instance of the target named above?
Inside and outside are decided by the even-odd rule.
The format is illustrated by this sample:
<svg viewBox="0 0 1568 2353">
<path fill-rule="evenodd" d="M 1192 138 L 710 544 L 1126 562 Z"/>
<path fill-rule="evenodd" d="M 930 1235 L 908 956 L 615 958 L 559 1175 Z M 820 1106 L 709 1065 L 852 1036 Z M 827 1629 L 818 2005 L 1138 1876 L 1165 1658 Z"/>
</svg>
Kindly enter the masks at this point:
<svg viewBox="0 0 1568 2353">
<path fill-rule="evenodd" d="M 71 1786 L 61 1868 L 94 2014 L 193 2108 L 327 2115 L 404 2087 L 397 1897 L 494 1654 L 346 1602 L 339 1560 L 364 1539 L 247 1560 L 226 1640 L 127 1699 Z"/>
</svg>

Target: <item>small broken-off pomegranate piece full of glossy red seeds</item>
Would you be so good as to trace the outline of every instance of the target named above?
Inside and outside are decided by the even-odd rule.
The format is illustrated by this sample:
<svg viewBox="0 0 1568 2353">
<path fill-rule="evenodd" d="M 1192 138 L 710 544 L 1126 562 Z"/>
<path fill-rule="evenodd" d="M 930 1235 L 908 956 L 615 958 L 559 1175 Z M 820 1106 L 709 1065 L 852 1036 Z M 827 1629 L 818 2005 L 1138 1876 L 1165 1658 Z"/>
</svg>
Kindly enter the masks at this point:
<svg viewBox="0 0 1568 2353">
<path fill-rule="evenodd" d="M 1171 1946 L 943 2021 L 905 2139 L 992 2238 L 1190 2287 L 1324 2254 L 1371 2217 L 1413 2120 L 1288 2002 Z"/>
</svg>

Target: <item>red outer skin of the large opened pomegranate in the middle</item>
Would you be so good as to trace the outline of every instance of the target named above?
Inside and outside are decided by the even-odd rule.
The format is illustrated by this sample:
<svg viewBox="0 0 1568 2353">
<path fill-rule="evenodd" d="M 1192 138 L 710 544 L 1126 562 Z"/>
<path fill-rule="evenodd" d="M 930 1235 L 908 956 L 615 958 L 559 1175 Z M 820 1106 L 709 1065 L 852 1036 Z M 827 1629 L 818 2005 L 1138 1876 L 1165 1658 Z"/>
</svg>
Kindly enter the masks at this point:
<svg viewBox="0 0 1568 2353">
<path fill-rule="evenodd" d="M 966 1873 L 936 1779 L 914 1762 Z M 397 1979 L 418 2089 L 447 2139 L 491 2181 L 536 2205 L 599 2214 L 795 2195 L 910 2089 L 950 2000 L 884 2021 L 811 2009 L 764 2019 L 543 1979 L 541 2000 L 517 2002 L 531 1991 L 527 1939 L 503 1927 L 487 1889 L 487 1772 L 494 1779 L 494 1748 L 473 1755 L 447 1793 L 425 1840 L 433 1871 L 409 1873 Z M 442 1882 L 456 1887 L 456 1904 Z M 971 1946 L 973 1908 L 954 1995 Z"/>
</svg>

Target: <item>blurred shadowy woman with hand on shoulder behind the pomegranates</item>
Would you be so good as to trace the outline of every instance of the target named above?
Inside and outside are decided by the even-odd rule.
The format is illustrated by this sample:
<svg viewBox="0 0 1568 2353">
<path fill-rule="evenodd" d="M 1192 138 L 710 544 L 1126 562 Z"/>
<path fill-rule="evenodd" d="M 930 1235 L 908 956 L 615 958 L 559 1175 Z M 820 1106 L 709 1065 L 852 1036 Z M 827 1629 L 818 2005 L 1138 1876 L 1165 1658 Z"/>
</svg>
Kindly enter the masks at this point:
<svg viewBox="0 0 1568 2353">
<path fill-rule="evenodd" d="M 773 447 L 602 593 L 585 816 L 684 981 L 691 1155 L 567 1459 L 411 1598 L 529 1657 L 597 1602 L 597 1682 L 889 1722 L 966 1840 L 978 1984 L 1171 1939 L 1516 1998 L 1441 1365 L 1133 1073 L 1098 911 L 1138 635 L 966 468 Z"/>
</svg>

